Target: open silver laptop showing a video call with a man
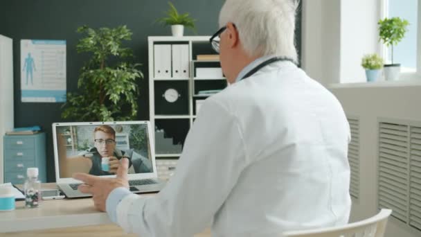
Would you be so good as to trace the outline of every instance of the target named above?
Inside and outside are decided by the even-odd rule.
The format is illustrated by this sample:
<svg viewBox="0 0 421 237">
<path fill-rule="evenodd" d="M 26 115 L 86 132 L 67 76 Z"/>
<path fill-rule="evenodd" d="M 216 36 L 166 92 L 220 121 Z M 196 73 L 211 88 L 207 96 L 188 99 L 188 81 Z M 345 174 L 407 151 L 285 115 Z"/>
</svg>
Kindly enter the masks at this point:
<svg viewBox="0 0 421 237">
<path fill-rule="evenodd" d="M 113 164 L 123 157 L 129 159 L 130 191 L 158 192 L 165 185 L 157 178 L 149 121 L 53 123 L 53 142 L 55 179 L 67 198 L 91 196 L 78 191 L 82 182 L 73 173 L 115 177 Z"/>
</svg>

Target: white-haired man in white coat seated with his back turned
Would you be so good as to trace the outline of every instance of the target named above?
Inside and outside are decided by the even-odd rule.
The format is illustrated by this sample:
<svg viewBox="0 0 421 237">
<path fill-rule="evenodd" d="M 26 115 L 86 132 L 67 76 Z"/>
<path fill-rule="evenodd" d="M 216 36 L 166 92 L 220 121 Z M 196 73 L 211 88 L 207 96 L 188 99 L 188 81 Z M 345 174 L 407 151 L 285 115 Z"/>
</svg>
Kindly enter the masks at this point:
<svg viewBox="0 0 421 237">
<path fill-rule="evenodd" d="M 348 222 L 350 130 L 341 104 L 296 66 L 295 0 L 226 0 L 212 37 L 232 84 L 208 98 L 177 172 L 152 198 L 115 179 L 75 175 L 127 232 L 278 236 Z"/>
</svg>

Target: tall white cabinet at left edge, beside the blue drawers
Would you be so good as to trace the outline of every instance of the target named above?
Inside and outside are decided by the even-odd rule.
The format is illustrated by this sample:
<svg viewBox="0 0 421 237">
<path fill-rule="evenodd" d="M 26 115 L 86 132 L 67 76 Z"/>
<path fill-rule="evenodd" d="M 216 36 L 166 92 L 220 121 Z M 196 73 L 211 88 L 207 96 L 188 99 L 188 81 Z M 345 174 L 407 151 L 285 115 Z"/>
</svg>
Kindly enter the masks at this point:
<svg viewBox="0 0 421 237">
<path fill-rule="evenodd" d="M 0 184 L 4 182 L 3 136 L 14 127 L 12 39 L 0 35 Z"/>
</svg>

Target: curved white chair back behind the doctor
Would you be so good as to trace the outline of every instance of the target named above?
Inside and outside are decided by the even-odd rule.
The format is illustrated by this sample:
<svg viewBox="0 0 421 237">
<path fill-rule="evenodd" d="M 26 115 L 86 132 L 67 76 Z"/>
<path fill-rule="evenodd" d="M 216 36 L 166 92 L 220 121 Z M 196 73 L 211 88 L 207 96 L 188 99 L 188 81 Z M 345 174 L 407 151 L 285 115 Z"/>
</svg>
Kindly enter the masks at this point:
<svg viewBox="0 0 421 237">
<path fill-rule="evenodd" d="M 376 216 L 342 227 L 287 231 L 284 237 L 383 237 L 391 209 L 382 209 Z"/>
</svg>

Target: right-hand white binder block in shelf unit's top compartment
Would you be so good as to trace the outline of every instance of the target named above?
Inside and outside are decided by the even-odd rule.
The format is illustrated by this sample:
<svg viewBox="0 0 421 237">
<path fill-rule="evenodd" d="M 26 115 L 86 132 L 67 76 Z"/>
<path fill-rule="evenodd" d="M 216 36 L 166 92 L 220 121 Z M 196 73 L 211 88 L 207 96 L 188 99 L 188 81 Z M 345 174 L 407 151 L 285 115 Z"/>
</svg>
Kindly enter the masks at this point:
<svg viewBox="0 0 421 237">
<path fill-rule="evenodd" d="M 188 44 L 172 44 L 172 78 L 190 76 Z"/>
</svg>

